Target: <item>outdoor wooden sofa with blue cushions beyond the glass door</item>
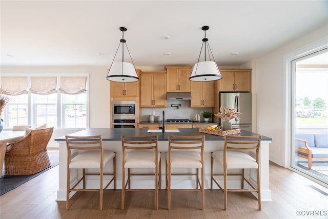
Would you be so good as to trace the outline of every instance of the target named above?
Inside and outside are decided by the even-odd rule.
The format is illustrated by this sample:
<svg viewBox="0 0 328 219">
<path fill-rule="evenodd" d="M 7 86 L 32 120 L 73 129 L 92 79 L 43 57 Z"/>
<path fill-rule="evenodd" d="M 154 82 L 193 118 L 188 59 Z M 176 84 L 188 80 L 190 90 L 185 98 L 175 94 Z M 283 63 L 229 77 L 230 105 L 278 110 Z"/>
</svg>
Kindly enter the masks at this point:
<svg viewBox="0 0 328 219">
<path fill-rule="evenodd" d="M 295 153 L 308 160 L 309 169 L 312 161 L 328 161 L 328 133 L 296 134 Z"/>
</svg>

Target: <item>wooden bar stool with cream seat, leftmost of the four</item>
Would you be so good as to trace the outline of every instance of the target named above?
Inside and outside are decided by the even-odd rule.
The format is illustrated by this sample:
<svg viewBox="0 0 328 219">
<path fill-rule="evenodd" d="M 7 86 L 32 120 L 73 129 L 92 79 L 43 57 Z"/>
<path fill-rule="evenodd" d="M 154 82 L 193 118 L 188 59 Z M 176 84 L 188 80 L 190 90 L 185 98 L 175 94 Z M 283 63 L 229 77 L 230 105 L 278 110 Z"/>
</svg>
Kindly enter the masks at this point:
<svg viewBox="0 0 328 219">
<path fill-rule="evenodd" d="M 116 156 L 115 152 L 104 150 L 103 138 L 101 135 L 94 136 L 71 136 L 66 135 L 67 145 L 67 192 L 66 192 L 66 210 L 69 209 L 70 192 L 78 191 L 99 191 L 99 210 L 103 209 L 103 193 L 104 190 L 113 182 L 114 189 L 116 189 L 115 177 L 116 177 Z M 113 161 L 113 172 L 104 173 L 104 167 Z M 74 186 L 70 186 L 71 169 L 82 169 L 83 176 L 75 183 Z M 99 169 L 99 173 L 86 173 L 86 169 Z M 86 176 L 87 175 L 99 175 L 100 186 L 99 189 L 87 189 L 86 188 Z M 109 183 L 105 186 L 104 175 L 112 175 Z M 75 189 L 80 182 L 83 182 L 83 189 Z"/>
</svg>

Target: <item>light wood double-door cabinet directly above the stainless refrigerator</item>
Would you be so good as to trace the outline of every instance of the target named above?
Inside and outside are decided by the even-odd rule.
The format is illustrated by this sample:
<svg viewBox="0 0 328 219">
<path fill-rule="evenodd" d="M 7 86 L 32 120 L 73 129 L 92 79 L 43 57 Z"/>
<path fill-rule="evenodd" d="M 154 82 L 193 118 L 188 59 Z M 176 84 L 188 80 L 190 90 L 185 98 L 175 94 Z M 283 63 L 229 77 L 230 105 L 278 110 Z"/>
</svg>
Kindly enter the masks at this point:
<svg viewBox="0 0 328 219">
<path fill-rule="evenodd" d="M 252 69 L 222 69 L 219 91 L 252 91 Z"/>
</svg>

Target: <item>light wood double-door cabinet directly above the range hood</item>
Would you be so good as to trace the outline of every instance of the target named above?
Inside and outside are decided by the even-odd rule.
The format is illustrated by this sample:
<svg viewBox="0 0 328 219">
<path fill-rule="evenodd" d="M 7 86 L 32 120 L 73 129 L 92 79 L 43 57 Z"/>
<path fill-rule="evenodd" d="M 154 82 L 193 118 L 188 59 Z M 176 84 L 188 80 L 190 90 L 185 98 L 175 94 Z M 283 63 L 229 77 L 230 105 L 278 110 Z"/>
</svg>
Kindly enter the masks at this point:
<svg viewBox="0 0 328 219">
<path fill-rule="evenodd" d="M 189 77 L 192 66 L 166 66 L 167 92 L 190 92 Z"/>
</svg>

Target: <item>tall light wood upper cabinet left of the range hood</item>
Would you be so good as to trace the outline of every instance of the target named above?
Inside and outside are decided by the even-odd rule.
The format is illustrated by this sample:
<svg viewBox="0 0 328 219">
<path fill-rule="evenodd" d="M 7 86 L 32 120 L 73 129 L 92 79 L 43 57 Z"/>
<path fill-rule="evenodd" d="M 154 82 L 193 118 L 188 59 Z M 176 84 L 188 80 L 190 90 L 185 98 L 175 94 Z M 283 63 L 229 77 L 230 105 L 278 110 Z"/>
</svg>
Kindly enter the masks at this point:
<svg viewBox="0 0 328 219">
<path fill-rule="evenodd" d="M 140 107 L 166 107 L 165 72 L 140 74 Z"/>
</svg>

